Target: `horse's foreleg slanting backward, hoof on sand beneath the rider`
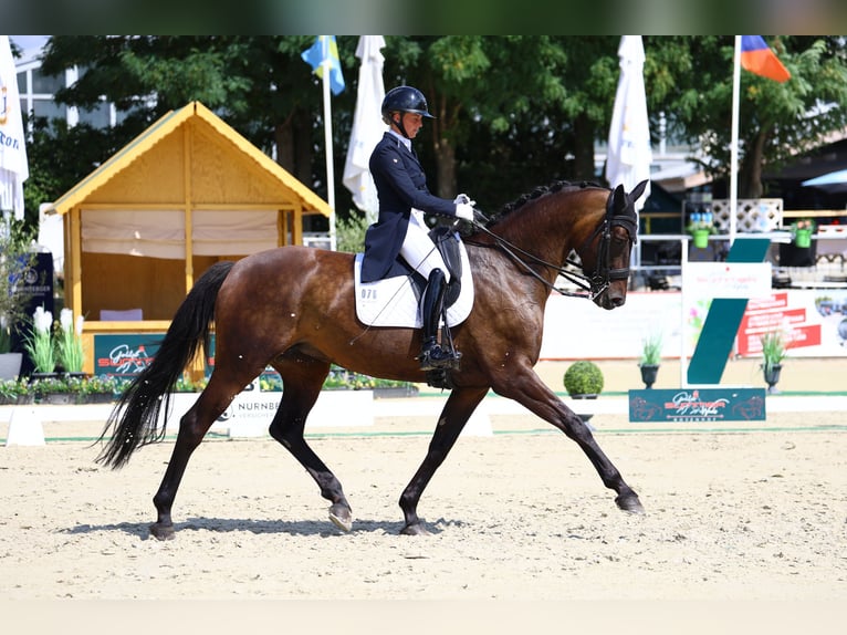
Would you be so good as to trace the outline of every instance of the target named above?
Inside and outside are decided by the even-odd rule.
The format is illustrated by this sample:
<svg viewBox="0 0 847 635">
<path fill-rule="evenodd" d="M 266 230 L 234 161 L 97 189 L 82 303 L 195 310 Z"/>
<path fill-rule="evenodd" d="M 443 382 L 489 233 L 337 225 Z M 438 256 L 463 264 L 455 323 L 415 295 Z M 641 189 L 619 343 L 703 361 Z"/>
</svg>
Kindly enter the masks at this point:
<svg viewBox="0 0 847 635">
<path fill-rule="evenodd" d="M 406 535 L 429 533 L 418 518 L 418 501 L 436 470 L 445 462 L 464 424 L 468 423 L 487 393 L 488 388 L 456 388 L 448 397 L 438 419 L 432 440 L 429 443 L 427 456 L 400 495 L 400 509 L 406 519 L 406 524 L 400 533 Z"/>
</svg>

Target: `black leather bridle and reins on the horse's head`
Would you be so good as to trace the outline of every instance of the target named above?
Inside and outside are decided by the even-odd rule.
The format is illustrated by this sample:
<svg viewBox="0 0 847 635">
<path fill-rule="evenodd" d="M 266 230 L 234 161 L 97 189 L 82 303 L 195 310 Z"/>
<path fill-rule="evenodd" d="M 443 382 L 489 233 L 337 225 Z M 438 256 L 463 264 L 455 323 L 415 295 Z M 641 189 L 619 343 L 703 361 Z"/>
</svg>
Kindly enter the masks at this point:
<svg viewBox="0 0 847 635">
<path fill-rule="evenodd" d="M 638 217 L 632 209 L 632 200 L 630 200 L 629 197 L 626 197 L 626 195 L 624 196 L 626 205 L 624 206 L 620 214 L 616 214 L 615 191 L 613 190 L 609 192 L 609 197 L 606 200 L 606 214 L 603 217 L 603 221 L 600 221 L 600 223 L 590 233 L 590 236 L 588 236 L 588 238 L 583 242 L 581 249 L 577 250 L 578 253 L 583 249 L 587 248 L 592 242 L 594 242 L 597 237 L 599 237 L 596 264 L 594 272 L 592 272 L 590 275 L 585 273 L 585 268 L 579 261 L 567 258 L 562 267 L 553 264 L 552 262 L 547 262 L 546 260 L 530 253 L 516 244 L 509 242 L 504 238 L 490 231 L 484 225 L 477 222 L 475 220 L 473 221 L 473 225 L 477 227 L 477 229 L 493 238 L 496 246 L 503 250 L 503 252 L 505 252 L 519 267 L 524 269 L 530 275 L 538 280 L 542 284 L 552 291 L 555 291 L 561 295 L 594 300 L 604 293 L 615 280 L 629 279 L 628 267 L 615 269 L 611 268 L 611 228 L 623 227 L 626 229 L 627 236 L 629 237 L 630 250 L 638 240 Z M 541 274 L 538 274 L 537 271 L 535 271 L 535 269 L 527 264 L 526 260 L 534 264 L 541 264 L 542 267 L 552 269 L 553 271 L 557 272 L 558 275 L 562 275 L 582 289 L 582 291 L 568 291 L 567 289 L 561 289 L 555 284 L 547 282 Z M 578 268 L 578 270 L 574 271 L 573 269 L 566 269 L 566 267 Z"/>
</svg>

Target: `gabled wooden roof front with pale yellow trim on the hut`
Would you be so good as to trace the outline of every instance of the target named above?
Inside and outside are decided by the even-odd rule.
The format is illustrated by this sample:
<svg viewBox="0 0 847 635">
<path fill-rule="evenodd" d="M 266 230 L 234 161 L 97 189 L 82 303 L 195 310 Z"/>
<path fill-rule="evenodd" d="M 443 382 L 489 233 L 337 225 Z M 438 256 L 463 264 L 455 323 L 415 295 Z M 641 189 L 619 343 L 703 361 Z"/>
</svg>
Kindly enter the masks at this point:
<svg viewBox="0 0 847 635">
<path fill-rule="evenodd" d="M 74 207 L 268 207 L 330 217 L 330 206 L 199 102 L 171 111 L 56 199 Z"/>
</svg>

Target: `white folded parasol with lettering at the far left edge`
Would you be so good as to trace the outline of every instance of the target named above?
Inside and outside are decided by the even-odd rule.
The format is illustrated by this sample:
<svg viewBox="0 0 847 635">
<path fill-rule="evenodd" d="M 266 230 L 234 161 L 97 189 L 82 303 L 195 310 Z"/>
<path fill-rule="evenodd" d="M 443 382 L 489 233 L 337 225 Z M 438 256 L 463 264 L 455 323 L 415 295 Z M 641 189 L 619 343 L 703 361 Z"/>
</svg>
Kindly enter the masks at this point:
<svg viewBox="0 0 847 635">
<path fill-rule="evenodd" d="M 23 114 L 18 95 L 9 35 L 0 35 L 0 209 L 23 219 L 23 181 L 30 176 L 23 136 Z"/>
</svg>

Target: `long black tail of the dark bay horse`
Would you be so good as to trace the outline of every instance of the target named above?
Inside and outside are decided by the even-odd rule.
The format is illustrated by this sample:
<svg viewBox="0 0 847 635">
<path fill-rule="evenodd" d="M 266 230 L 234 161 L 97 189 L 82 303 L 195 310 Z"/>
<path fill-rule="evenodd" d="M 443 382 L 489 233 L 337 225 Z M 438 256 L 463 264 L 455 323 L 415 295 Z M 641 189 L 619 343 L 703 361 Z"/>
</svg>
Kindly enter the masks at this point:
<svg viewBox="0 0 847 635">
<path fill-rule="evenodd" d="M 106 438 L 109 429 L 112 436 L 96 458 L 97 462 L 121 468 L 129 461 L 136 448 L 165 438 L 170 391 L 200 344 L 208 348 L 215 300 L 233 264 L 230 261 L 213 264 L 177 309 L 153 362 L 126 387 L 106 420 L 100 441 Z M 165 418 L 159 430 L 157 421 L 163 406 Z"/>
</svg>

